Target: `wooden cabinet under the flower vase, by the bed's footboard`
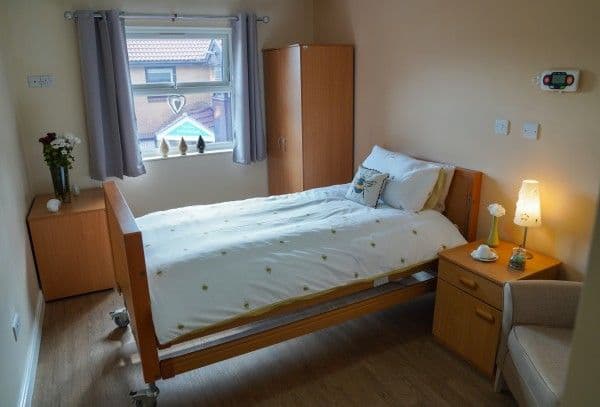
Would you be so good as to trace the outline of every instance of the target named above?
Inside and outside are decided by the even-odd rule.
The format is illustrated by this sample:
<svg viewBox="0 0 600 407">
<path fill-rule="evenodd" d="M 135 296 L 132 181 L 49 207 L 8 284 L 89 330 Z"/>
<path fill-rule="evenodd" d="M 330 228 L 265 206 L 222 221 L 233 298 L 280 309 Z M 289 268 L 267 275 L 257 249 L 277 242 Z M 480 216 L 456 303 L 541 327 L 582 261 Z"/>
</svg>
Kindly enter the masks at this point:
<svg viewBox="0 0 600 407">
<path fill-rule="evenodd" d="M 81 191 L 57 213 L 46 209 L 46 202 L 53 197 L 37 196 L 27 216 L 44 299 L 112 288 L 112 252 L 102 189 Z"/>
</svg>

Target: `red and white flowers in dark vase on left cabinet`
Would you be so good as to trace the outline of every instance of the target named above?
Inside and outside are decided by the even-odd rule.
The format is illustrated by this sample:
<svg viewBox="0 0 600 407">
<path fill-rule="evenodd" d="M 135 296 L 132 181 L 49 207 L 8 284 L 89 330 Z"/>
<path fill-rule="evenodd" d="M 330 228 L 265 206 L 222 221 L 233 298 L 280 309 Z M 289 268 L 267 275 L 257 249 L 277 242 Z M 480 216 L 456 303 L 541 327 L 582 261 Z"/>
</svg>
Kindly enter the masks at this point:
<svg viewBox="0 0 600 407">
<path fill-rule="evenodd" d="M 38 141 L 43 145 L 44 161 L 50 169 L 54 195 L 63 202 L 71 202 L 69 170 L 75 162 L 73 149 L 81 144 L 81 140 L 71 133 L 58 136 L 56 133 L 47 133 Z"/>
</svg>

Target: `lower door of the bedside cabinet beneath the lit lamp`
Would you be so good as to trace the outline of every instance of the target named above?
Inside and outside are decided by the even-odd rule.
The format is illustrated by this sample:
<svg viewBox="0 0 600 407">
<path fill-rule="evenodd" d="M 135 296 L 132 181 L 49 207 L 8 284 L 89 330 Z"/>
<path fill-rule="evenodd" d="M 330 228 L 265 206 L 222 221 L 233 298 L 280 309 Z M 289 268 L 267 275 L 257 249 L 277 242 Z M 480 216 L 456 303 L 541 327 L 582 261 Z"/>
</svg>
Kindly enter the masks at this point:
<svg viewBox="0 0 600 407">
<path fill-rule="evenodd" d="M 501 319 L 502 313 L 494 307 L 438 280 L 433 334 L 490 377 L 496 364 Z"/>
</svg>

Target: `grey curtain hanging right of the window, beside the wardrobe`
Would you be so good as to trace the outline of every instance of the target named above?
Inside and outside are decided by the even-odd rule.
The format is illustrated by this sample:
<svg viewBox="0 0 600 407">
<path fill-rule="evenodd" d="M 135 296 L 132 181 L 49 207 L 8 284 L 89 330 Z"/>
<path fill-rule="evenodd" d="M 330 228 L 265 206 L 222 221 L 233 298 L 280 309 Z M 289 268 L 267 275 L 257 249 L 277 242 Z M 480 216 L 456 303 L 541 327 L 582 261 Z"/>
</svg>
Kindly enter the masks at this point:
<svg viewBox="0 0 600 407">
<path fill-rule="evenodd" d="M 232 27 L 233 161 L 250 164 L 267 158 L 263 87 L 258 59 L 256 15 L 241 13 Z"/>
</svg>

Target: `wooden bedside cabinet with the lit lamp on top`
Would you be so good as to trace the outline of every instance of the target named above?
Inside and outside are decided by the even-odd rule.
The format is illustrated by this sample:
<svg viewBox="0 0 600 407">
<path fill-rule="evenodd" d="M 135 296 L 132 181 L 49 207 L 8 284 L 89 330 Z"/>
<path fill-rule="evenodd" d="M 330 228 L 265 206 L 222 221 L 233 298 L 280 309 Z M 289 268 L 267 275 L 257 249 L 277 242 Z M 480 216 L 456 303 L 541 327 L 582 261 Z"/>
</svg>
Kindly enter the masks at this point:
<svg viewBox="0 0 600 407">
<path fill-rule="evenodd" d="M 524 271 L 508 268 L 513 247 L 501 242 L 499 258 L 484 263 L 471 258 L 482 242 L 473 242 L 439 254 L 433 335 L 490 378 L 502 326 L 504 283 L 522 279 L 555 279 L 560 262 L 533 253 Z"/>
</svg>

